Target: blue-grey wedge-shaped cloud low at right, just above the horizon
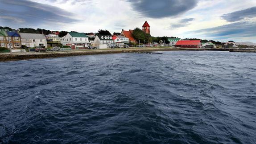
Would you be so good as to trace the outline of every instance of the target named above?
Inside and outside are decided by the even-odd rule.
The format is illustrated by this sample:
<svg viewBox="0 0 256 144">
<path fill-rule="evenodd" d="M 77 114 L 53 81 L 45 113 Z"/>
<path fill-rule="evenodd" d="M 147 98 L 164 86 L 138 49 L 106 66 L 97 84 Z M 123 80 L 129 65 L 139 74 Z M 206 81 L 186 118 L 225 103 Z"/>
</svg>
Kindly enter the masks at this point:
<svg viewBox="0 0 256 144">
<path fill-rule="evenodd" d="M 201 34 L 206 37 L 256 37 L 256 22 L 236 22 L 209 29 L 190 31 L 189 33 Z"/>
</svg>

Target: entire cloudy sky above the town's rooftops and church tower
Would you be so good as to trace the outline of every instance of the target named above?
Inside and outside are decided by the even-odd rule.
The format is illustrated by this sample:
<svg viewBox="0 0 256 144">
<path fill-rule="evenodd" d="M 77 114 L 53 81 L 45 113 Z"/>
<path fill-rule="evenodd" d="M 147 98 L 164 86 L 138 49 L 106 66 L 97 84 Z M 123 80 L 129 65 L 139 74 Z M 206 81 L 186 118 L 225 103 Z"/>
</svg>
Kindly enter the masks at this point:
<svg viewBox="0 0 256 144">
<path fill-rule="evenodd" d="M 0 0 L 0 26 L 256 42 L 256 0 Z"/>
</svg>

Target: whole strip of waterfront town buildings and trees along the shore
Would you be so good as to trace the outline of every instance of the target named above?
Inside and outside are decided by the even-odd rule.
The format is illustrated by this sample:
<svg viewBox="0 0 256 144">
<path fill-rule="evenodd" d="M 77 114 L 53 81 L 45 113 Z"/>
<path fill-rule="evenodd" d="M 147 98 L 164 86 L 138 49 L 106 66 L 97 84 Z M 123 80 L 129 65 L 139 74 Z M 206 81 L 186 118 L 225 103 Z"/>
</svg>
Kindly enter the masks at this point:
<svg viewBox="0 0 256 144">
<path fill-rule="evenodd" d="M 28 51 L 60 51 L 76 49 L 113 49 L 129 47 L 179 47 L 194 49 L 254 47 L 235 41 L 219 42 L 200 39 L 181 39 L 178 37 L 151 37 L 147 21 L 142 29 L 122 29 L 120 33 L 111 34 L 107 30 L 98 33 L 58 32 L 43 29 L 27 33 L 24 29 L 0 29 L 0 53 Z M 8 27 L 5 27 L 8 28 Z M 41 32 L 40 32 L 41 31 Z"/>
</svg>

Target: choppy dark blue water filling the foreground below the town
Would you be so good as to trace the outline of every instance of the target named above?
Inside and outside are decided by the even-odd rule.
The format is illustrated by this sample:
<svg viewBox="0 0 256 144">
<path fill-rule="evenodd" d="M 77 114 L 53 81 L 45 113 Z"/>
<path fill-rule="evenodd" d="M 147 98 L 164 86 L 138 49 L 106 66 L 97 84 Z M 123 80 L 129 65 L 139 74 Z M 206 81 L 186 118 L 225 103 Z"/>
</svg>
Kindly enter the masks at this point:
<svg viewBox="0 0 256 144">
<path fill-rule="evenodd" d="M 256 53 L 163 53 L 0 62 L 0 143 L 256 143 Z"/>
</svg>

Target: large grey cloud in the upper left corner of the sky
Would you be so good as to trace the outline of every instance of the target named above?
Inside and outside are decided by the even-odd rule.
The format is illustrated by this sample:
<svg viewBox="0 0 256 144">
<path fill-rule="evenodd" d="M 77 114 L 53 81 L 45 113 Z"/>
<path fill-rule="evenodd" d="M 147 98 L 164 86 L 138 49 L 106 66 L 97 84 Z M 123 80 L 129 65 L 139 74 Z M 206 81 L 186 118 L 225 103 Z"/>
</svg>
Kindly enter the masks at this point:
<svg viewBox="0 0 256 144">
<path fill-rule="evenodd" d="M 28 0 L 0 0 L 0 17 L 5 25 L 19 26 L 10 22 L 10 17 L 27 25 L 49 23 L 74 23 L 74 15 L 61 8 Z M 16 22 L 17 22 L 16 21 Z M 58 24 L 56 24 L 58 25 Z"/>
</svg>

